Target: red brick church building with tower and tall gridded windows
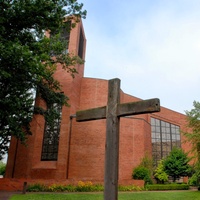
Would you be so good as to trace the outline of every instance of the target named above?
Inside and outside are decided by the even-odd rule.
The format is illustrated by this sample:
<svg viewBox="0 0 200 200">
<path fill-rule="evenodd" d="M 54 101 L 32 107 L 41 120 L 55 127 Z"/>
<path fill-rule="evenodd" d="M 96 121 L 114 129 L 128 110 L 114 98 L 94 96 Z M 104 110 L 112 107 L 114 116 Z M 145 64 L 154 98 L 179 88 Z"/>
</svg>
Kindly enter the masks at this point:
<svg viewBox="0 0 200 200">
<path fill-rule="evenodd" d="M 72 29 L 69 38 L 68 51 L 84 59 L 86 37 L 82 22 Z M 70 107 L 61 108 L 54 132 L 48 132 L 43 116 L 35 115 L 27 146 L 12 138 L 5 178 L 103 181 L 106 121 L 76 122 L 75 114 L 78 110 L 107 104 L 108 80 L 84 77 L 84 64 L 76 69 L 78 74 L 72 78 L 61 66 L 57 67 L 55 78 L 69 97 Z M 140 100 L 120 91 L 121 103 Z M 40 99 L 36 103 L 44 105 Z M 152 157 L 156 164 L 173 146 L 189 150 L 189 145 L 182 143 L 180 133 L 185 126 L 185 115 L 164 107 L 158 113 L 122 117 L 119 181 L 130 180 L 133 168 L 145 155 Z"/>
</svg>

